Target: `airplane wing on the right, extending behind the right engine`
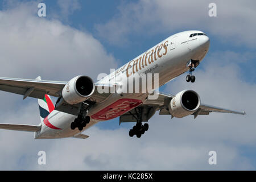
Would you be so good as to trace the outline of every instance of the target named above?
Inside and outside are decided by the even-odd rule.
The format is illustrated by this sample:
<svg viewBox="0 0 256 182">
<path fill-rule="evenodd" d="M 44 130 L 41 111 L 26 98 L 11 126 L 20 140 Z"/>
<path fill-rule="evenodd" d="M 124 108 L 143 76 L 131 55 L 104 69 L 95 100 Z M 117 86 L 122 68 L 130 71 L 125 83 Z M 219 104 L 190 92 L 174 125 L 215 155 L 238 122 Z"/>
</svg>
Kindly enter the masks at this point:
<svg viewBox="0 0 256 182">
<path fill-rule="evenodd" d="M 136 113 L 138 113 L 138 109 L 142 109 L 144 113 L 142 115 L 142 122 L 148 121 L 156 111 L 159 110 L 160 115 L 171 115 L 168 111 L 168 104 L 174 97 L 171 94 L 166 94 L 163 92 L 156 92 L 155 94 L 158 94 L 158 99 L 156 100 L 147 100 L 142 105 L 139 105 L 135 109 L 129 111 L 128 113 L 125 113 L 119 117 L 119 123 L 122 122 L 137 122 L 137 119 L 135 118 Z M 218 112 L 218 113 L 233 113 L 233 114 L 242 114 L 245 115 L 245 111 L 236 111 L 236 110 L 229 110 L 224 109 L 221 107 L 216 106 L 210 106 L 201 104 L 199 109 L 197 109 L 192 115 L 194 115 L 194 118 L 196 118 L 198 115 L 208 115 L 212 112 Z"/>
</svg>

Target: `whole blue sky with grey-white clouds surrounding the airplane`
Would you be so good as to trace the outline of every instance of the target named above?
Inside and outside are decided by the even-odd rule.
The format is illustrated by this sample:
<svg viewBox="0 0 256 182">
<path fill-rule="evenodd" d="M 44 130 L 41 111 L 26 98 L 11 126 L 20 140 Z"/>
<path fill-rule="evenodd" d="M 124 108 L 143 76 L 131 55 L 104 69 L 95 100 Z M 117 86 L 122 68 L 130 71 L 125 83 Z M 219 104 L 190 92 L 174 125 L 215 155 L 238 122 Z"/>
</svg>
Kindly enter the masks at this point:
<svg viewBox="0 0 256 182">
<path fill-rule="evenodd" d="M 39 2 L 46 3 L 46 18 L 37 16 Z M 34 149 L 28 151 L 18 148 L 17 144 L 15 150 L 19 153 L 1 154 L 6 160 L 12 160 L 5 166 L 7 162 L 3 159 L 1 162 L 0 159 L 0 169 L 155 169 L 150 167 L 152 165 L 158 167 L 156 169 L 255 169 L 255 2 L 214 1 L 217 5 L 217 17 L 209 17 L 210 2 L 212 1 L 0 1 L 0 33 L 6 35 L 1 37 L 1 48 L 5 50 L 0 52 L 0 72 L 3 77 L 34 78 L 41 75 L 47 80 L 67 81 L 81 73 L 92 76 L 95 80 L 96 71 L 109 73 L 110 68 L 120 67 L 176 32 L 201 30 L 210 38 L 210 50 L 196 69 L 195 84 L 185 82 L 184 73 L 160 90 L 175 94 L 183 89 L 193 89 L 199 92 L 204 103 L 247 111 L 243 118 L 212 113 L 197 118 L 196 122 L 191 122 L 191 117 L 173 119 L 170 122 L 170 118 L 160 117 L 156 113 L 149 122 L 151 130 L 141 141 L 130 139 L 128 131 L 133 124 L 122 123 L 119 127 L 118 118 L 98 123 L 86 131 L 85 134 L 88 132 L 92 138 L 86 143 L 73 142 L 72 139 L 38 141 L 32 140 L 31 134 L 1 131 L 1 146 L 5 144 L 1 136 L 13 137 L 17 134 L 24 146 Z M 56 36 L 55 33 L 61 30 L 65 30 L 67 34 Z M 42 36 L 42 39 L 38 39 L 38 44 L 43 46 L 36 48 L 38 44 L 32 42 L 32 38 L 36 39 L 38 36 Z M 84 49 L 73 44 L 73 37 L 76 36 L 82 40 Z M 51 42 L 51 39 L 54 41 Z M 71 51 L 72 48 L 75 51 Z M 43 68 L 42 63 L 47 67 Z M 0 93 L 0 97 L 9 103 L 0 104 L 2 123 L 13 122 L 13 117 L 21 113 L 20 118 L 26 119 L 23 121 L 30 124 L 39 122 L 34 99 L 22 101 L 21 96 L 4 92 Z M 10 117 L 13 110 L 15 115 Z M 30 115 L 30 112 L 33 114 Z M 186 138 L 188 136 L 191 138 Z M 100 144 L 104 145 L 99 142 L 102 138 L 109 147 L 106 147 L 106 151 L 94 154 L 93 149 L 101 150 Z M 82 162 L 79 159 L 74 159 L 75 162 L 69 160 L 72 163 L 69 167 L 64 164 L 60 167 L 61 160 L 71 153 L 68 151 L 70 142 L 73 142 L 73 147 L 79 148 L 82 144 L 85 148 L 77 154 Z M 14 139 L 10 139 L 10 143 L 15 144 Z M 113 143 L 121 147 L 115 149 Z M 123 143 L 127 145 L 123 146 Z M 56 163 L 49 162 L 46 167 L 30 163 L 30 160 L 36 159 L 38 148 L 45 148 L 51 154 L 49 158 L 54 158 L 58 152 L 55 146 L 63 151 L 67 150 L 63 152 L 65 156 L 59 156 Z M 122 152 L 133 146 L 138 151 L 131 150 L 130 155 L 122 155 Z M 86 151 L 86 147 L 90 148 L 87 148 L 89 151 Z M 158 160 L 148 160 L 151 157 L 147 152 L 145 154 L 145 148 L 152 154 L 162 152 L 163 158 L 169 159 L 171 164 L 164 163 L 160 156 Z M 214 148 L 217 148 L 217 154 L 220 154 L 223 161 L 221 163 L 220 160 L 216 167 L 204 163 L 208 151 Z M 183 155 L 176 156 L 177 153 Z M 138 159 L 131 160 L 133 155 L 138 155 Z M 202 155 L 203 159 L 200 157 Z M 106 167 L 108 160 L 103 159 L 104 157 L 112 160 L 109 167 Z M 118 160 L 127 164 L 121 165 Z M 94 167 L 87 166 L 93 162 Z"/>
</svg>

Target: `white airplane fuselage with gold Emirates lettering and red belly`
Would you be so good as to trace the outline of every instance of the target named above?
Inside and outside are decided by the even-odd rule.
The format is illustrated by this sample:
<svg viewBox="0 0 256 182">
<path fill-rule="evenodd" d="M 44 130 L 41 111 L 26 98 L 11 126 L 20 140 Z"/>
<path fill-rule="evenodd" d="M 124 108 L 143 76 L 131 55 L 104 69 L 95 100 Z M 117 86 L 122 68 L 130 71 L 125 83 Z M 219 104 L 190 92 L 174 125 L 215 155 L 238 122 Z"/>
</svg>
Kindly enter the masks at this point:
<svg viewBox="0 0 256 182">
<path fill-rule="evenodd" d="M 200 35 L 189 37 L 191 34 Z M 203 34 L 203 35 L 201 35 Z M 135 59 L 105 76 L 97 84 L 118 84 L 129 87 L 129 80 L 142 74 L 158 73 L 159 83 L 162 86 L 177 76 L 188 71 L 189 60 L 200 61 L 209 49 L 209 38 L 201 31 L 185 31 L 172 35 L 156 46 L 143 52 Z M 128 81 L 127 81 L 128 80 Z M 124 85 L 125 84 L 125 85 Z M 154 88 L 157 89 L 157 88 Z M 106 121 L 119 117 L 127 111 L 143 104 L 149 93 L 114 93 L 106 100 L 94 104 L 88 110 L 90 123 L 84 130 L 98 121 Z M 64 138 L 80 134 L 79 129 L 71 130 L 71 123 L 76 115 L 52 111 L 44 119 L 41 131 L 35 133 L 36 139 Z"/>
</svg>

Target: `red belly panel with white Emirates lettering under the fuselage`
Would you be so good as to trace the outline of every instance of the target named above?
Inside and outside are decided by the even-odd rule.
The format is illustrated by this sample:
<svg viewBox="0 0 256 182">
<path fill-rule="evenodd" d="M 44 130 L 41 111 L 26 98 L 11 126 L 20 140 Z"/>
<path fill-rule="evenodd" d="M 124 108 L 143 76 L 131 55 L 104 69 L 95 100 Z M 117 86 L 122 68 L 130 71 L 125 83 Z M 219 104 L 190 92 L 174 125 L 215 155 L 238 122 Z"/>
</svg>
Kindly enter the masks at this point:
<svg viewBox="0 0 256 182">
<path fill-rule="evenodd" d="M 98 111 L 98 113 L 93 114 L 91 118 L 100 121 L 113 119 L 126 113 L 134 107 L 137 107 L 140 104 L 142 104 L 141 100 L 132 98 L 122 98 L 114 102 L 113 104 L 109 105 L 108 107 L 105 107 L 104 109 Z"/>
</svg>

